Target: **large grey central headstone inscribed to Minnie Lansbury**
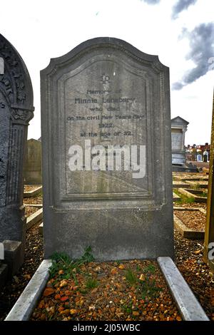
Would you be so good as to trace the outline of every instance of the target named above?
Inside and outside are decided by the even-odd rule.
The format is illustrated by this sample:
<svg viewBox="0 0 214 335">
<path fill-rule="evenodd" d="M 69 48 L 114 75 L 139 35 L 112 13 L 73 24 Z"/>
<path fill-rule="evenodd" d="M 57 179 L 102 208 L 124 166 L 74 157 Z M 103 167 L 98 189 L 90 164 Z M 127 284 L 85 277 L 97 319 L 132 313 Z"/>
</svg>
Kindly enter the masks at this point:
<svg viewBox="0 0 214 335">
<path fill-rule="evenodd" d="M 100 260 L 173 257 L 169 69 L 158 56 L 94 38 L 51 59 L 41 130 L 45 257 L 88 246 Z"/>
</svg>

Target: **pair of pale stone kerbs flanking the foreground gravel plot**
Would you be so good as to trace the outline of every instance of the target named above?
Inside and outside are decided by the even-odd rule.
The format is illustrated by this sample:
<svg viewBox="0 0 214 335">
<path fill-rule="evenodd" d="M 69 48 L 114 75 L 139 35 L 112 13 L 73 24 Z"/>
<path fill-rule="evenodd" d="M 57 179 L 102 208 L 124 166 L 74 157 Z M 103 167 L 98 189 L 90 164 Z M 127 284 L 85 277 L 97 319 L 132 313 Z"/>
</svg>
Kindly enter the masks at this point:
<svg viewBox="0 0 214 335">
<path fill-rule="evenodd" d="M 170 257 L 158 257 L 172 297 L 184 321 L 209 321 L 198 300 Z M 49 280 L 51 259 L 44 259 L 4 321 L 28 321 Z"/>
</svg>

